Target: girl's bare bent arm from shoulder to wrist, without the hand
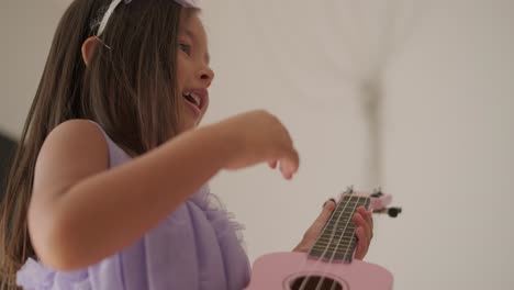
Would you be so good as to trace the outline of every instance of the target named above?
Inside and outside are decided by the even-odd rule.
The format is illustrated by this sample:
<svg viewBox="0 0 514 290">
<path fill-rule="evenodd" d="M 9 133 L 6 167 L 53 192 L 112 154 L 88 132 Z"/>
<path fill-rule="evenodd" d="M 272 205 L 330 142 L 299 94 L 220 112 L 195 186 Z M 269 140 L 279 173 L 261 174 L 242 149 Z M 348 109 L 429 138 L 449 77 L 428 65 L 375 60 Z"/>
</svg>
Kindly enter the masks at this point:
<svg viewBox="0 0 514 290">
<path fill-rule="evenodd" d="M 35 169 L 29 223 L 38 257 L 70 270 L 134 243 L 222 168 L 231 142 L 221 143 L 214 131 L 183 133 L 105 170 L 99 129 L 87 121 L 62 124 L 45 142 Z"/>
</svg>

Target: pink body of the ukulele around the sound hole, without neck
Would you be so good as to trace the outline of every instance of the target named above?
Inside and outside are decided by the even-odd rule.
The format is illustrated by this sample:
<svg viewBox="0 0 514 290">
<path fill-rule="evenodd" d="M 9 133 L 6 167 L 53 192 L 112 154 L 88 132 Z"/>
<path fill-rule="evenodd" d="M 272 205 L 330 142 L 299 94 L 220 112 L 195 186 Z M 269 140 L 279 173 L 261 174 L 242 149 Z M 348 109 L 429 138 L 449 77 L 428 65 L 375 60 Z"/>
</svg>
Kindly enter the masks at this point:
<svg viewBox="0 0 514 290">
<path fill-rule="evenodd" d="M 309 276 L 314 278 L 303 281 L 302 277 Z M 319 287 L 320 281 L 323 287 Z M 361 260 L 328 263 L 304 253 L 275 253 L 254 263 L 252 281 L 246 290 L 391 290 L 392 285 L 391 272 L 375 264 Z"/>
</svg>

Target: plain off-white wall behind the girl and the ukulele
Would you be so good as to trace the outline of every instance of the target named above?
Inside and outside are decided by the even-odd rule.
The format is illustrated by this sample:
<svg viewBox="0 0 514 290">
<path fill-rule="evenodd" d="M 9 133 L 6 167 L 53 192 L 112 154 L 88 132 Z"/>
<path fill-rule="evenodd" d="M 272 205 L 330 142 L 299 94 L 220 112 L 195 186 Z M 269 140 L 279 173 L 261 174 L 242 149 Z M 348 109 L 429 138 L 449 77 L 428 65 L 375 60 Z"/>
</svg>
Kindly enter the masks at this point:
<svg viewBox="0 0 514 290">
<path fill-rule="evenodd" d="M 0 129 L 12 134 L 64 10 L 65 1 L 44 2 L 0 0 Z M 302 158 L 290 182 L 257 166 L 223 172 L 211 187 L 247 226 L 252 259 L 289 250 L 325 199 L 348 185 L 375 186 L 361 96 L 345 67 L 348 38 L 325 31 L 345 30 L 333 16 L 343 0 L 326 0 L 331 10 L 314 1 L 203 2 L 217 72 L 205 122 L 268 109 Z M 514 1 L 418 7 L 414 33 L 387 70 L 382 114 L 382 187 L 404 213 L 376 216 L 367 260 L 390 269 L 399 290 L 512 289 Z"/>
</svg>

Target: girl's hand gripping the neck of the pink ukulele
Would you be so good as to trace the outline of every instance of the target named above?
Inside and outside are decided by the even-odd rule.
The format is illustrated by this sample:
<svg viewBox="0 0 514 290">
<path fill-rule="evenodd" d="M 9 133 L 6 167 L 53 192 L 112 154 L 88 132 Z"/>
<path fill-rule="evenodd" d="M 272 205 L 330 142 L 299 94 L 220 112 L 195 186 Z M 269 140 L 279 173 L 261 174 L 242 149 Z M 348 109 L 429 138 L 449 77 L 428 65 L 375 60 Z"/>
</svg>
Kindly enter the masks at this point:
<svg viewBox="0 0 514 290">
<path fill-rule="evenodd" d="M 325 224 L 328 222 L 328 219 L 331 217 L 334 209 L 335 201 L 328 200 L 323 205 L 322 213 L 305 232 L 302 241 L 293 249 L 293 252 L 308 252 L 312 246 L 314 246 L 317 236 L 320 235 L 321 231 L 325 227 Z M 358 207 L 353 220 L 356 224 L 355 233 L 357 235 L 357 247 L 355 250 L 355 258 L 361 260 L 368 253 L 369 244 L 371 243 L 371 238 L 373 237 L 373 217 L 371 211 L 367 211 L 365 207 Z"/>
</svg>

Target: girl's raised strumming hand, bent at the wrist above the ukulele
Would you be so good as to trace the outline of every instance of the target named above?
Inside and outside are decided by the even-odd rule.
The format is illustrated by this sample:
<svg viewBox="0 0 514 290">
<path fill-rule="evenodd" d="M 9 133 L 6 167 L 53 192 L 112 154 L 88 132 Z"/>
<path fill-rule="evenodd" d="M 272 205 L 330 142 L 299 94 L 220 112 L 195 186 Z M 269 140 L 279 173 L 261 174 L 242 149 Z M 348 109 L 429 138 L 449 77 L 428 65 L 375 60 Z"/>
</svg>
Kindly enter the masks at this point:
<svg viewBox="0 0 514 290">
<path fill-rule="evenodd" d="M 287 179 L 297 172 L 298 153 L 288 131 L 272 114 L 261 110 L 252 111 L 230 118 L 217 125 L 222 136 L 235 145 L 225 169 L 234 170 L 267 161 L 271 168 L 279 165 Z"/>
</svg>

